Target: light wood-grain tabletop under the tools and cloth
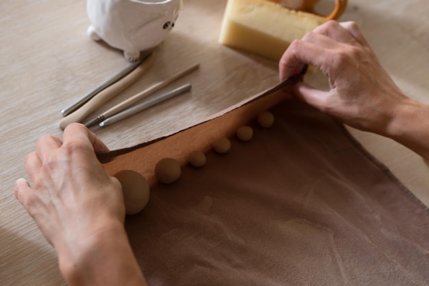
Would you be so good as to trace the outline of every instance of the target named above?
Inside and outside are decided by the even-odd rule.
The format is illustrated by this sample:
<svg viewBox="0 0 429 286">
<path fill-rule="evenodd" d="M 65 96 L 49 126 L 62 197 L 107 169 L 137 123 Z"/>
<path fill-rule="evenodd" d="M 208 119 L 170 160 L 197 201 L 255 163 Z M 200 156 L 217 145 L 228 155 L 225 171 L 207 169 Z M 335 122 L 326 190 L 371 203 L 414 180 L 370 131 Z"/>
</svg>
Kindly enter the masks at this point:
<svg viewBox="0 0 429 286">
<path fill-rule="evenodd" d="M 350 0 L 341 18 L 356 21 L 380 61 L 410 97 L 429 100 L 429 7 L 424 0 Z M 332 1 L 323 0 L 319 10 Z M 162 78 L 199 62 L 191 93 L 114 126 L 93 130 L 110 149 L 142 143 L 192 126 L 278 82 L 277 62 L 217 43 L 225 0 L 186 0 L 154 64 L 104 110 Z M 25 156 L 42 134 L 61 136 L 60 110 L 128 62 L 86 35 L 84 0 L 0 1 L 0 284 L 64 285 L 56 254 L 14 198 L 27 178 Z M 306 81 L 326 88 L 320 73 Z M 429 205 L 429 165 L 397 143 L 350 129 L 422 202 Z"/>
</svg>

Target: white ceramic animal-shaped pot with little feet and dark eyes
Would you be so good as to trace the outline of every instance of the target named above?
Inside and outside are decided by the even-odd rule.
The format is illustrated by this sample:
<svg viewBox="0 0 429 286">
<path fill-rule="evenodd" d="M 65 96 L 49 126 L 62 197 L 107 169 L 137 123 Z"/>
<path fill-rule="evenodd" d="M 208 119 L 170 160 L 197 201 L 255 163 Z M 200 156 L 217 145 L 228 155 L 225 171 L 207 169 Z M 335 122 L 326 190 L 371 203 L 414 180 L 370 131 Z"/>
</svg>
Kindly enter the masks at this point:
<svg viewBox="0 0 429 286">
<path fill-rule="evenodd" d="M 177 19 L 183 0 L 87 0 L 88 35 L 123 50 L 136 61 L 140 51 L 162 43 Z"/>
</svg>

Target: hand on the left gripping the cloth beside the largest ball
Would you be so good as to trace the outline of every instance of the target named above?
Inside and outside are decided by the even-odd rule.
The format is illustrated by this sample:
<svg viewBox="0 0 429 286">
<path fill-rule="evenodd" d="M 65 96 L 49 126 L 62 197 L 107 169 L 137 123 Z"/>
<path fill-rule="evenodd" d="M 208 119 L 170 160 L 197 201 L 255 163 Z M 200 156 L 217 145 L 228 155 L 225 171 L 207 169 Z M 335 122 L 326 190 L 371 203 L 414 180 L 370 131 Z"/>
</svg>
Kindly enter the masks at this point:
<svg viewBox="0 0 429 286">
<path fill-rule="evenodd" d="M 97 151 L 108 148 L 83 125 L 71 124 L 63 140 L 42 136 L 36 152 L 27 156 L 32 187 L 23 178 L 16 180 L 16 198 L 56 248 L 63 274 L 101 237 L 120 233 L 126 241 L 121 184 L 106 174 Z"/>
</svg>

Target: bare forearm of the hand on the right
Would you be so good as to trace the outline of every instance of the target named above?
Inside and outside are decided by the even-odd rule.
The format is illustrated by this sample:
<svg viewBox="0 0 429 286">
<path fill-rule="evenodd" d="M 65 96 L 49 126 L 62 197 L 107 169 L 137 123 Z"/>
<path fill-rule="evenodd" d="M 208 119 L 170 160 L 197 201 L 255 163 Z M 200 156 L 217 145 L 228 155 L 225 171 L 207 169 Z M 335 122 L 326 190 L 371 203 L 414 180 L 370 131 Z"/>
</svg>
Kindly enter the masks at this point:
<svg viewBox="0 0 429 286">
<path fill-rule="evenodd" d="M 408 99 L 395 108 L 384 136 L 429 160 L 429 105 Z"/>
</svg>

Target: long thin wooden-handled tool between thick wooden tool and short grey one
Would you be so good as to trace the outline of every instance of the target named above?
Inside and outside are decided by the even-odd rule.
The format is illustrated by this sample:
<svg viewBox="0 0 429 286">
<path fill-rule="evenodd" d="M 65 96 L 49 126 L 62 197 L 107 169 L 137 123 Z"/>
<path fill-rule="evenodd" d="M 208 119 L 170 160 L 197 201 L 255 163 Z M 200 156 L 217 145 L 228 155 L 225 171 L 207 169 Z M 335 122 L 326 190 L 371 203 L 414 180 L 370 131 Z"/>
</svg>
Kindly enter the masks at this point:
<svg viewBox="0 0 429 286">
<path fill-rule="evenodd" d="M 191 67 L 188 67 L 182 71 L 179 71 L 171 76 L 171 78 L 167 78 L 167 80 L 162 80 L 161 82 L 157 82 L 156 84 L 149 86 L 149 88 L 146 88 L 144 91 L 141 91 L 140 93 L 137 93 L 136 95 L 130 97 L 129 99 L 125 100 L 124 102 L 121 102 L 121 104 L 118 104 L 117 106 L 113 106 L 109 110 L 106 110 L 105 112 L 101 113 L 101 115 L 98 115 L 94 119 L 88 121 L 85 125 L 87 127 L 93 126 L 97 123 L 100 123 L 104 119 L 111 117 L 112 115 L 117 114 L 118 112 L 121 112 L 128 106 L 131 106 L 132 104 L 140 101 L 141 99 L 147 97 L 151 93 L 154 93 L 164 86 L 167 86 L 168 84 L 171 84 L 171 82 L 174 82 L 175 80 L 178 80 L 179 78 L 182 78 L 184 75 L 187 75 L 188 73 L 191 73 L 191 71 L 195 71 L 195 69 L 198 69 L 199 64 L 193 64 Z"/>
</svg>

